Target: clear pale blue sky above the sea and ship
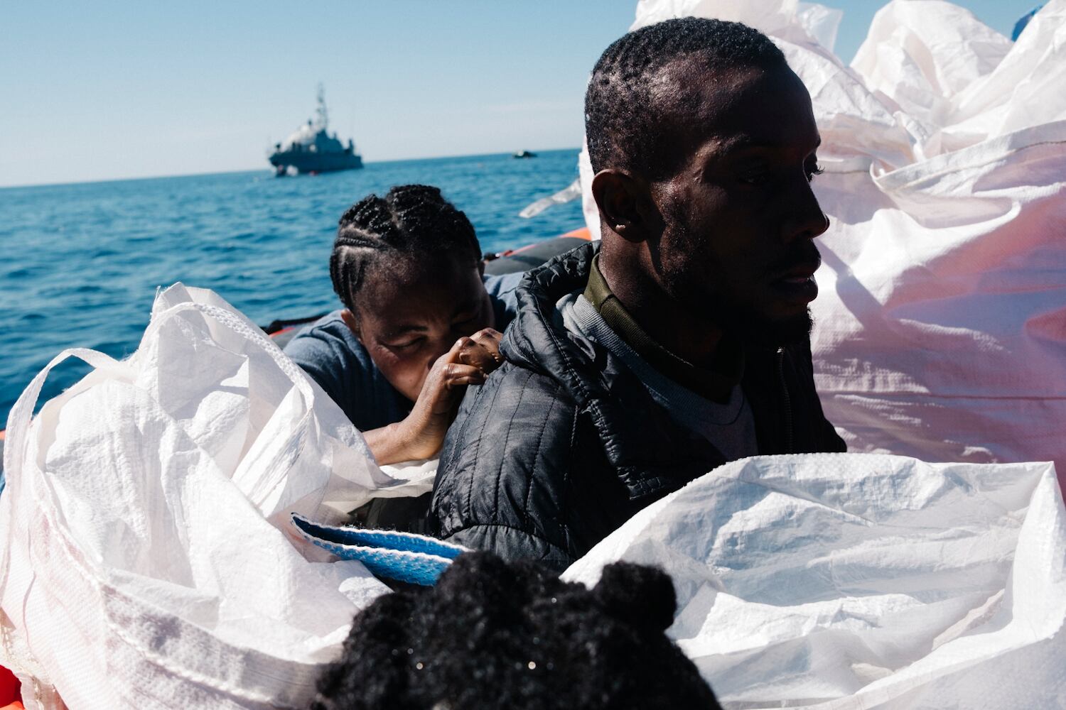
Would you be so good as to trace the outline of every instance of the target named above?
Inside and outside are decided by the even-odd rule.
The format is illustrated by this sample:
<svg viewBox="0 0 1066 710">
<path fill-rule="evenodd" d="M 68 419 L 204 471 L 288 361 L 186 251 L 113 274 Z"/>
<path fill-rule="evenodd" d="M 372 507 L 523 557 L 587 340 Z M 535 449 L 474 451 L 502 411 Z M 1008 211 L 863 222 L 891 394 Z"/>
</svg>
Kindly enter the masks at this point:
<svg viewBox="0 0 1066 710">
<path fill-rule="evenodd" d="M 962 0 L 1008 34 L 1036 0 Z M 9 2 L 0 185 L 265 168 L 311 116 L 368 161 L 574 147 L 635 0 Z M 850 60 L 879 0 L 844 10 Z"/>
</svg>

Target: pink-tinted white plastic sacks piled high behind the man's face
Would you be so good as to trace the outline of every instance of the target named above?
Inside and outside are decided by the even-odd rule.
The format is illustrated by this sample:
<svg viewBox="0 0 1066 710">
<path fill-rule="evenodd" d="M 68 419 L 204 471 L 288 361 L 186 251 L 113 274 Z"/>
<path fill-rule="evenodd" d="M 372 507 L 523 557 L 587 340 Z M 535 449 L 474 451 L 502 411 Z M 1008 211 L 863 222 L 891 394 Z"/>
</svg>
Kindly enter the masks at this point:
<svg viewBox="0 0 1066 710">
<path fill-rule="evenodd" d="M 851 67 L 827 45 L 834 13 L 642 0 L 634 28 L 744 21 L 810 90 L 831 220 L 811 346 L 849 449 L 1054 461 L 1066 477 L 1066 0 L 1014 44 L 951 3 L 895 0 Z"/>
</svg>

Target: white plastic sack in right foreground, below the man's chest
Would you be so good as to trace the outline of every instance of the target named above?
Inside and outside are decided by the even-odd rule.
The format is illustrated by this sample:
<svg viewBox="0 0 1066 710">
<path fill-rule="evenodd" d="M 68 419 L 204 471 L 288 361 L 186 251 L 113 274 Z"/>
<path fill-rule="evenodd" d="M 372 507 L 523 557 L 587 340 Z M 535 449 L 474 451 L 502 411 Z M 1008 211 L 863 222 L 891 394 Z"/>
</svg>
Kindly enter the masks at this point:
<svg viewBox="0 0 1066 710">
<path fill-rule="evenodd" d="M 1049 463 L 728 463 L 563 577 L 661 566 L 668 634 L 723 707 L 1066 707 L 1066 513 Z"/>
</svg>

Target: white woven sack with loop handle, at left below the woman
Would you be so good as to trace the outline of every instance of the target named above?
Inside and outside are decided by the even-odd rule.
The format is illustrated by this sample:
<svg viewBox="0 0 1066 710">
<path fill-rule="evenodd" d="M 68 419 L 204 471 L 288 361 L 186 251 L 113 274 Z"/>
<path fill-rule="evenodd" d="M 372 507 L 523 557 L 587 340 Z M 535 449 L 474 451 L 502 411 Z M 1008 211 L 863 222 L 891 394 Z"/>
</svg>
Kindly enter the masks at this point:
<svg viewBox="0 0 1066 710">
<path fill-rule="evenodd" d="M 31 420 L 68 357 L 94 371 Z M 305 558 L 289 514 L 405 484 L 254 324 L 180 284 L 128 360 L 69 350 L 31 382 L 4 472 L 0 664 L 31 710 L 306 707 L 387 590 Z"/>
</svg>

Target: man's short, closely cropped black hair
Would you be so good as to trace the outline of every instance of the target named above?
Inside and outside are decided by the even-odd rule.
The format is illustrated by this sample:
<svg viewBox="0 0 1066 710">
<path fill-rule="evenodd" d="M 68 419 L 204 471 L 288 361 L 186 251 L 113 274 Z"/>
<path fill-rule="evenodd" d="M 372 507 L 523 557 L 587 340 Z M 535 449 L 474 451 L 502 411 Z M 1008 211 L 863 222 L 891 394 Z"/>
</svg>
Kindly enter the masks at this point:
<svg viewBox="0 0 1066 710">
<path fill-rule="evenodd" d="M 663 146 L 667 116 L 657 102 L 657 75 L 682 59 L 712 71 L 788 66 L 766 35 L 740 22 L 681 17 L 634 30 L 596 63 L 585 93 L 585 137 L 593 170 L 621 168 L 656 178 L 674 165 Z"/>
</svg>

